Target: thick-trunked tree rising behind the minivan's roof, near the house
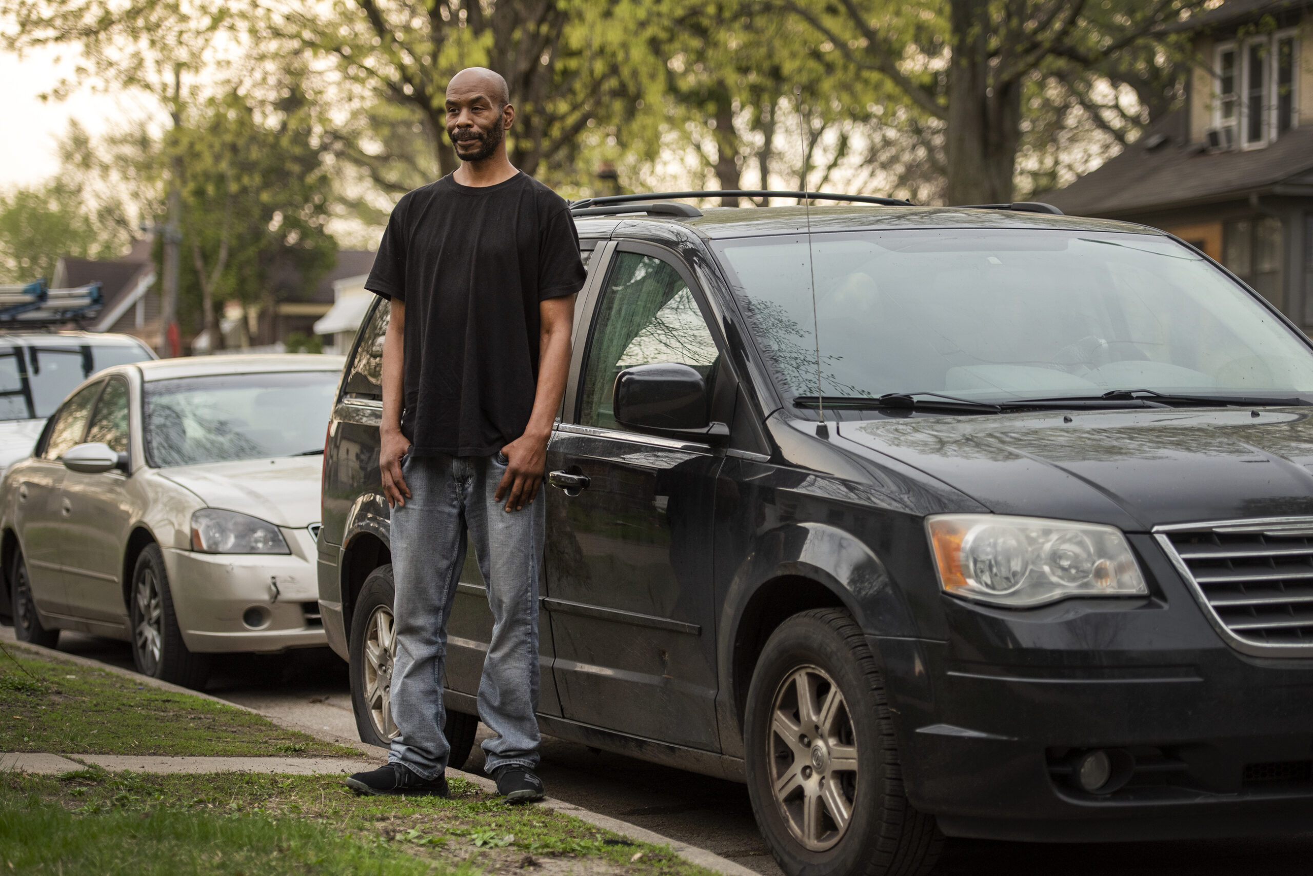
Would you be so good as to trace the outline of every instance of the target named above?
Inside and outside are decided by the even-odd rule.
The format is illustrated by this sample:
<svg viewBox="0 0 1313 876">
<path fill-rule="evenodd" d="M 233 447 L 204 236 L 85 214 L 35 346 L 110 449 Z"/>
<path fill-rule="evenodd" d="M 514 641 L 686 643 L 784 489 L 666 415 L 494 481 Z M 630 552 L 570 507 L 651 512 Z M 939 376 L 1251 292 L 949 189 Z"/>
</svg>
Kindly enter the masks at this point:
<svg viewBox="0 0 1313 876">
<path fill-rule="evenodd" d="M 853 64 L 888 79 L 944 123 L 949 204 L 1012 200 L 1028 89 L 1070 89 L 1091 120 L 1108 106 L 1090 83 L 1132 83 L 1150 93 L 1152 59 L 1179 54 L 1165 28 L 1204 0 L 781 0 Z M 1150 59 L 1150 64 L 1145 60 Z M 1170 99 L 1169 99 L 1170 102 Z M 1149 101 L 1161 110 L 1162 101 Z M 1141 120 L 1142 121 L 1142 120 Z M 1095 122 L 1098 123 L 1098 122 Z"/>
</svg>

